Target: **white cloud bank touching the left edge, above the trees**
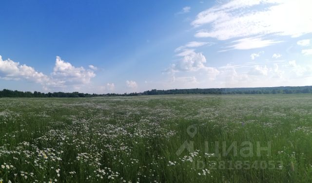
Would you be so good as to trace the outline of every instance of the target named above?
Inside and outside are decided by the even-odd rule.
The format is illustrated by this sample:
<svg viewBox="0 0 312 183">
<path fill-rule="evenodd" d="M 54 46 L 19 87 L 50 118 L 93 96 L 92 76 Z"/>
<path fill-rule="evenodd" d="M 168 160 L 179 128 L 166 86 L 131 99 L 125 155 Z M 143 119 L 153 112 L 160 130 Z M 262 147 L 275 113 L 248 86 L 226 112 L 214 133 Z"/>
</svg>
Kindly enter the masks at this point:
<svg viewBox="0 0 312 183">
<path fill-rule="evenodd" d="M 27 80 L 37 83 L 47 82 L 49 77 L 34 68 L 25 64 L 20 65 L 19 62 L 7 59 L 2 60 L 0 55 L 0 78 L 7 80 Z"/>
</svg>

